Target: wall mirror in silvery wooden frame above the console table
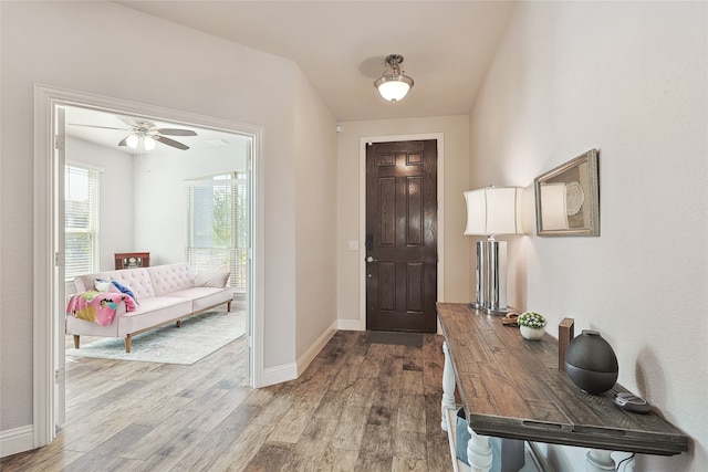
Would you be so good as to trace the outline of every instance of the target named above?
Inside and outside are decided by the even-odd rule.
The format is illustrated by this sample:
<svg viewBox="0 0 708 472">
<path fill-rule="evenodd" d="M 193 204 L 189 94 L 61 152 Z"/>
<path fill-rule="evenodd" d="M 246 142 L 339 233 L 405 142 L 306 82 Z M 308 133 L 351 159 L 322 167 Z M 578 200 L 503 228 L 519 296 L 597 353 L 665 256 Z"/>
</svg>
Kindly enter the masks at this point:
<svg viewBox="0 0 708 472">
<path fill-rule="evenodd" d="M 533 182 L 538 235 L 600 235 L 597 149 L 549 170 Z"/>
</svg>

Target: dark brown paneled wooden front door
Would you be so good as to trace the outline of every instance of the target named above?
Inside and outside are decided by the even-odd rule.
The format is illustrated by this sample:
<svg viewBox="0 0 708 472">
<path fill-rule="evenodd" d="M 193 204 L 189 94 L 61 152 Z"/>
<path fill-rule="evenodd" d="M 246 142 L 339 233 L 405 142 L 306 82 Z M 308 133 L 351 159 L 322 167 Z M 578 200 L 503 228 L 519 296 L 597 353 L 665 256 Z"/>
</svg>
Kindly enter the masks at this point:
<svg viewBox="0 0 708 472">
<path fill-rule="evenodd" d="M 366 328 L 435 333 L 437 141 L 366 149 Z"/>
</svg>

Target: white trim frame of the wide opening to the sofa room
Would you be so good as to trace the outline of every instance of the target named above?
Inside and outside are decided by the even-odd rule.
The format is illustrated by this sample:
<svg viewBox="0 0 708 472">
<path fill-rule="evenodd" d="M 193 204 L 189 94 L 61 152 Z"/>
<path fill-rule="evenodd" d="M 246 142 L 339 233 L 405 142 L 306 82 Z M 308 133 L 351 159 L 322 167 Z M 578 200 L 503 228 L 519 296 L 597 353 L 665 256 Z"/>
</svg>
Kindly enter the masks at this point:
<svg viewBox="0 0 708 472">
<path fill-rule="evenodd" d="M 48 85 L 34 85 L 34 202 L 33 202 L 33 366 L 32 366 L 32 439 L 33 448 L 46 445 L 56 437 L 58 411 L 55 407 L 59 377 L 64 366 L 58 366 L 58 339 L 63 331 L 63 301 L 59 300 L 59 284 L 55 271 L 55 254 L 63 253 L 58 247 L 56 216 L 61 197 L 58 196 L 58 179 L 63 179 L 54 154 L 53 130 L 56 128 L 54 109 L 71 105 L 94 107 L 116 113 L 190 124 L 194 126 L 220 129 L 227 133 L 246 134 L 253 139 L 251 162 L 251 248 L 249 264 L 249 295 L 247 295 L 249 316 L 249 374 L 251 385 L 262 384 L 263 373 L 263 306 L 264 306 L 264 198 L 263 198 L 263 128 L 260 126 L 232 122 L 222 118 L 179 112 L 136 102 L 127 102 L 67 91 Z M 63 293 L 63 290 L 61 291 Z M 50 296 L 48 296 L 48 294 Z M 55 370 L 56 369 L 56 370 Z"/>
</svg>

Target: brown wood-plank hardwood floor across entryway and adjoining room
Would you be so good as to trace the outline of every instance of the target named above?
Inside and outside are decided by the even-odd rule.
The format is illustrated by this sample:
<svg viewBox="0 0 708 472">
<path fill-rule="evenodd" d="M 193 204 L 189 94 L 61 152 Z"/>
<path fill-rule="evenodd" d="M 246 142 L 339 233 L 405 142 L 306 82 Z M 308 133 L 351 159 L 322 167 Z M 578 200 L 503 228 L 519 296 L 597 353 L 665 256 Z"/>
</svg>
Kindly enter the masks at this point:
<svg viewBox="0 0 708 472">
<path fill-rule="evenodd" d="M 2 471 L 447 471 L 442 337 L 337 332 L 303 375 L 247 386 L 243 340 L 194 366 L 73 358 L 67 422 Z"/>
</svg>

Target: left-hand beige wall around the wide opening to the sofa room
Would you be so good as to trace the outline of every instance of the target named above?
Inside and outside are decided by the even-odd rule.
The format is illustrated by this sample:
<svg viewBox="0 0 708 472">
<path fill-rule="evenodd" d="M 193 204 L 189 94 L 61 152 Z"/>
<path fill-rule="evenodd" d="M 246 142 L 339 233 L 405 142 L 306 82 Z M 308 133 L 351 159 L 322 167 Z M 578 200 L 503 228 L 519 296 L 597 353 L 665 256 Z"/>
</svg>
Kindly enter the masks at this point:
<svg viewBox="0 0 708 472">
<path fill-rule="evenodd" d="M 295 275 L 295 81 L 291 61 L 112 2 L 13 2 L 1 8 L 0 431 L 32 424 L 33 86 L 46 84 L 262 126 L 266 369 L 292 365 Z M 136 51 L 159 51 L 136 54 Z M 304 101 L 315 99 L 303 96 Z M 315 107 L 310 117 L 331 117 Z M 334 122 L 321 129 L 334 134 Z M 323 155 L 333 155 L 334 147 Z M 323 187 L 321 197 L 330 191 Z M 285 204 L 283 204 L 285 202 Z M 334 239 L 334 230 L 325 227 Z M 136 244 L 142 240 L 136 240 Z M 329 271 L 329 272 L 327 272 Z M 335 273 L 313 276 L 326 286 Z M 316 280 L 312 283 L 316 283 Z M 306 325 L 299 326 L 310 329 Z M 302 333 L 304 338 L 308 333 Z"/>
</svg>

